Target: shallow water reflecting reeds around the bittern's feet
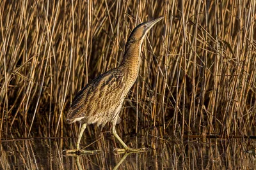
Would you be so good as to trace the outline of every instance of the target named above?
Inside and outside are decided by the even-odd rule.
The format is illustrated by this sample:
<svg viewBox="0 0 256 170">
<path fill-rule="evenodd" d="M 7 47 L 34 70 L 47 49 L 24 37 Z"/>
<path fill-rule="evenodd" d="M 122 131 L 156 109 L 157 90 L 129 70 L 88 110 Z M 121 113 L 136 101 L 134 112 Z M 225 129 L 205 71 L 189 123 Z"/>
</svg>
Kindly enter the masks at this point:
<svg viewBox="0 0 256 170">
<path fill-rule="evenodd" d="M 253 140 L 200 139 L 163 140 L 125 138 L 132 147 L 146 145 L 146 153 L 115 155 L 121 148 L 113 136 L 100 138 L 86 149 L 100 149 L 97 155 L 63 155 L 76 139 L 24 139 L 2 141 L 0 169 L 255 169 Z M 93 140 L 83 141 L 86 145 Z M 137 145 L 137 146 L 136 146 Z M 83 145 L 81 145 L 83 146 Z"/>
</svg>

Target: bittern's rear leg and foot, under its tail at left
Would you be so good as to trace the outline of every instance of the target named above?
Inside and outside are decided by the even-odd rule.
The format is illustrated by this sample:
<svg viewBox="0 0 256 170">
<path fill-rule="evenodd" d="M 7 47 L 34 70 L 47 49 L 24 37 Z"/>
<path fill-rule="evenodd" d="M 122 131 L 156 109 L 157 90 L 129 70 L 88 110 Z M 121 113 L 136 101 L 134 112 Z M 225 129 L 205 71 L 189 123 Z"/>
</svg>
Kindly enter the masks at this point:
<svg viewBox="0 0 256 170">
<path fill-rule="evenodd" d="M 78 139 L 77 139 L 77 143 L 76 143 L 76 150 L 63 150 L 63 152 L 65 153 L 76 153 L 77 155 L 81 154 L 81 153 L 99 153 L 100 150 L 81 150 L 79 148 L 80 145 L 80 141 L 81 138 L 83 136 L 83 132 L 86 129 L 86 124 L 83 124 L 82 127 L 80 128 L 80 132 L 78 135 Z"/>
</svg>

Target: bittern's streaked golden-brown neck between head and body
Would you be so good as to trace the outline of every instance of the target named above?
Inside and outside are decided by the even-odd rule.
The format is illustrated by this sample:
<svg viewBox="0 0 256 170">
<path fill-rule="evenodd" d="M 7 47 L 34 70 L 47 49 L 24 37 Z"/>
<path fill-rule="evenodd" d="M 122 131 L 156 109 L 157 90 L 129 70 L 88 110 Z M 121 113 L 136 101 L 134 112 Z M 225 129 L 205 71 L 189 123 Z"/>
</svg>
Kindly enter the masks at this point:
<svg viewBox="0 0 256 170">
<path fill-rule="evenodd" d="M 125 77 L 131 86 L 134 84 L 138 77 L 140 62 L 141 62 L 141 42 L 136 41 L 129 43 L 127 42 L 125 46 L 124 59 L 122 61 L 121 67 L 125 69 Z"/>
</svg>

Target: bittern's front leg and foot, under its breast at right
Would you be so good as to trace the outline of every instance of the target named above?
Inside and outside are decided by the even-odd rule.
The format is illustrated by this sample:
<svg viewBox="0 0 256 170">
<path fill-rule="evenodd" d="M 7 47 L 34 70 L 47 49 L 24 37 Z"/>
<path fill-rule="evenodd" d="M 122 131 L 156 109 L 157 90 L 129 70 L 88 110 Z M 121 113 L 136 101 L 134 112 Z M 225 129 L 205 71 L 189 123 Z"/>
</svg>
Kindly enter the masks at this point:
<svg viewBox="0 0 256 170">
<path fill-rule="evenodd" d="M 114 152 L 116 152 L 116 153 L 123 153 L 123 152 L 147 152 L 148 148 L 138 148 L 138 149 L 129 148 L 124 143 L 124 141 L 118 136 L 118 134 L 116 133 L 116 125 L 115 124 L 113 124 L 112 132 L 113 132 L 113 135 L 116 137 L 116 139 L 118 139 L 118 141 L 120 141 L 120 143 L 124 146 L 124 149 L 116 148 L 114 150 Z"/>
</svg>

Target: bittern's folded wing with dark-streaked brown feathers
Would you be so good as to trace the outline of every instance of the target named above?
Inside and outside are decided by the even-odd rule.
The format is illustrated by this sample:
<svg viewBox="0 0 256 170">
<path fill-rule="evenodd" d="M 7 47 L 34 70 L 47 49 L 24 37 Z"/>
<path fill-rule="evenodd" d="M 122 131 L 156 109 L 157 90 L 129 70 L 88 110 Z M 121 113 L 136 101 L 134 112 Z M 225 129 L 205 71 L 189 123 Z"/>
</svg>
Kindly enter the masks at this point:
<svg viewBox="0 0 256 170">
<path fill-rule="evenodd" d="M 124 74 L 118 69 L 101 74 L 78 92 L 68 111 L 67 122 L 71 124 L 82 118 L 106 114 L 120 103 L 124 87 Z"/>
</svg>

